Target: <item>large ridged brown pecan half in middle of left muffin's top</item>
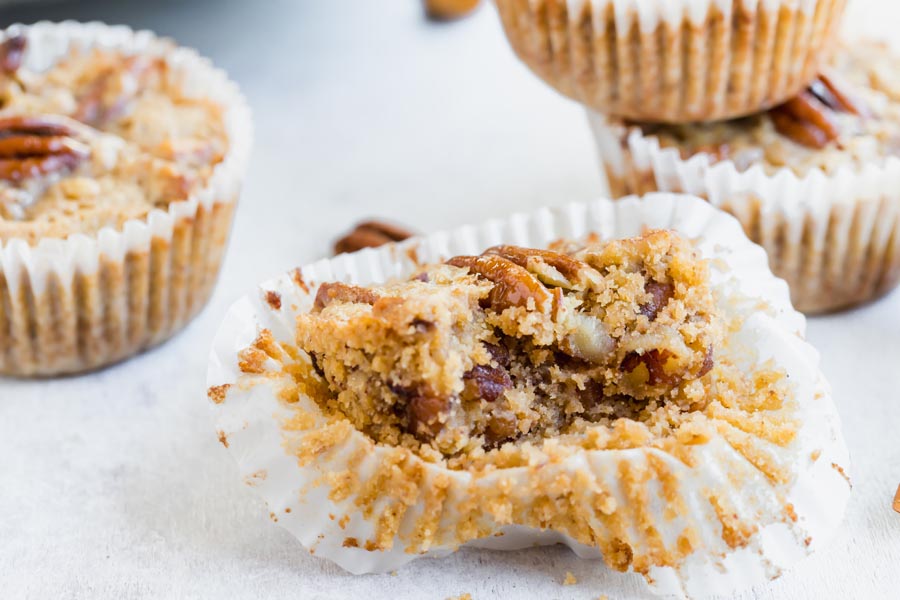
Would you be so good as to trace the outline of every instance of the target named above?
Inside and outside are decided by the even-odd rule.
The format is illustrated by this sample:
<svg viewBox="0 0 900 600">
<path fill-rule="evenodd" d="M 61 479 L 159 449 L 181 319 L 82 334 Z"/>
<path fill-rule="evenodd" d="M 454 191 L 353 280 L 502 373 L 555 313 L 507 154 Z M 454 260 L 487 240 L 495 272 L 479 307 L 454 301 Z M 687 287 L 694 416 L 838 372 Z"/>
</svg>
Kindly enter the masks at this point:
<svg viewBox="0 0 900 600">
<path fill-rule="evenodd" d="M 20 182 L 70 170 L 90 150 L 65 119 L 53 116 L 0 118 L 0 179 Z"/>
</svg>

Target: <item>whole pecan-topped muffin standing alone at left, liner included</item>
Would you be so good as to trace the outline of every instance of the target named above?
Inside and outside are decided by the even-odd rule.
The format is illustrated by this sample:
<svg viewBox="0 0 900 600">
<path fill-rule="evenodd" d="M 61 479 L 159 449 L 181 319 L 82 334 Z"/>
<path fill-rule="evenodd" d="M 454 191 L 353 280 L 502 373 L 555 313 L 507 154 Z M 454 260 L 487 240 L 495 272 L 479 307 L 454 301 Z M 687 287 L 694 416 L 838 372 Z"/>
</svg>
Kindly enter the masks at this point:
<svg viewBox="0 0 900 600">
<path fill-rule="evenodd" d="M 149 32 L 39 23 L 0 43 L 0 373 L 100 367 L 209 298 L 249 110 Z"/>
</svg>

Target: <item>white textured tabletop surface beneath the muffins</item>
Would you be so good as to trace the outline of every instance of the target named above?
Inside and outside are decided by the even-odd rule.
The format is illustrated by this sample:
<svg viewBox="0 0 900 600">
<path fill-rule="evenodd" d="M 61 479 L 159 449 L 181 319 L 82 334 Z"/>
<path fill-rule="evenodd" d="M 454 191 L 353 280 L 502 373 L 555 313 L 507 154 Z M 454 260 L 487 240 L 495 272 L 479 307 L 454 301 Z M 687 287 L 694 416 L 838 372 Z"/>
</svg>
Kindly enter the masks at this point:
<svg viewBox="0 0 900 600">
<path fill-rule="evenodd" d="M 121 4 L 0 17 L 105 18 L 197 46 L 255 109 L 250 181 L 221 285 L 184 334 L 97 374 L 0 380 L 0 598 L 642 597 L 637 577 L 561 548 L 467 550 L 396 576 L 347 575 L 269 521 L 216 441 L 204 396 L 228 305 L 325 254 L 353 219 L 434 230 L 599 195 L 583 112 L 515 61 L 489 7 L 430 26 L 416 0 Z M 894 0 L 857 5 L 857 21 L 885 33 L 900 18 Z M 831 547 L 741 600 L 897 597 L 898 314 L 895 293 L 810 322 L 856 487 Z M 577 585 L 561 585 L 566 571 Z"/>
</svg>

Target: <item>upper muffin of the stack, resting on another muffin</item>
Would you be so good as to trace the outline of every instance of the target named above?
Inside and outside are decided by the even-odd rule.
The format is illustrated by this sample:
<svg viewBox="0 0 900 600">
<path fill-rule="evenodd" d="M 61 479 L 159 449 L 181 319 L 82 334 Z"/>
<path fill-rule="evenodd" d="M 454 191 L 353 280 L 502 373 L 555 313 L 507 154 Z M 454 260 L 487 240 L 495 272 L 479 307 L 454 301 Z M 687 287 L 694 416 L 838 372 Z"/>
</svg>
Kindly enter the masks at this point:
<svg viewBox="0 0 900 600">
<path fill-rule="evenodd" d="M 844 0 L 496 0 L 513 50 L 557 91 L 625 119 L 739 117 L 796 95 Z"/>
</svg>

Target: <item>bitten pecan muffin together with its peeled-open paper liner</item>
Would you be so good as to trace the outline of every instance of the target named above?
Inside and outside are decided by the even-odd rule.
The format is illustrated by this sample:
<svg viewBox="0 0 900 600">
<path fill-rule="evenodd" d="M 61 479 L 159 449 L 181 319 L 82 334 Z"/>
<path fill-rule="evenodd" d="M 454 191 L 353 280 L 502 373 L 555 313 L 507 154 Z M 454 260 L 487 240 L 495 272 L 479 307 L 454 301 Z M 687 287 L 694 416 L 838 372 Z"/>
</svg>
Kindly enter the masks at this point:
<svg viewBox="0 0 900 600">
<path fill-rule="evenodd" d="M 660 593 L 773 577 L 842 519 L 803 317 L 739 225 L 651 195 L 320 261 L 229 312 L 219 440 L 354 573 L 565 543 Z"/>
</svg>

